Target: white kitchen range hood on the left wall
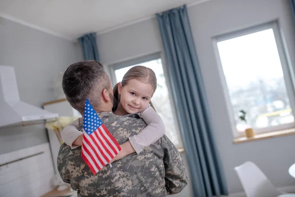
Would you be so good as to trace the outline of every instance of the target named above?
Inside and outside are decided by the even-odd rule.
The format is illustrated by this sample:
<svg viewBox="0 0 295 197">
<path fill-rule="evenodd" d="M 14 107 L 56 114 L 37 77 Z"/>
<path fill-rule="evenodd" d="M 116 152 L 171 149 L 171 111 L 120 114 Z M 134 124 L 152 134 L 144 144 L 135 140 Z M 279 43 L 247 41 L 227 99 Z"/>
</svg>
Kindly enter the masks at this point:
<svg viewBox="0 0 295 197">
<path fill-rule="evenodd" d="M 14 67 L 0 66 L 0 128 L 53 119 L 59 115 L 20 100 Z"/>
</svg>

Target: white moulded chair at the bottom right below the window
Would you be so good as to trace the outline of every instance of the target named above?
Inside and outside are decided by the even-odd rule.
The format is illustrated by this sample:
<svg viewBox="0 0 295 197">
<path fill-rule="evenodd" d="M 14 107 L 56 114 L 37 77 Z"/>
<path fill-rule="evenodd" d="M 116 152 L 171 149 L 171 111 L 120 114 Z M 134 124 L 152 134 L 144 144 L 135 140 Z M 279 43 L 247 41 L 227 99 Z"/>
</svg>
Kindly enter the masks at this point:
<svg viewBox="0 0 295 197">
<path fill-rule="evenodd" d="M 235 167 L 235 170 L 247 197 L 278 197 L 284 194 L 274 187 L 259 167 L 252 162 L 245 162 Z M 282 197 L 295 197 L 295 194 L 285 195 Z"/>
</svg>

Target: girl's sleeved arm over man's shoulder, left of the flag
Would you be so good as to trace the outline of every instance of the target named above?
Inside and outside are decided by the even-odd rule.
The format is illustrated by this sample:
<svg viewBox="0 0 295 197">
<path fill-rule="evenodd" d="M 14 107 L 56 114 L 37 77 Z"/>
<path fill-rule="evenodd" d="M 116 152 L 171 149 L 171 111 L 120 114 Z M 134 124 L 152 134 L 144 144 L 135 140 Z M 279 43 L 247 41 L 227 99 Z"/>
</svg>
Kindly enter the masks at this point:
<svg viewBox="0 0 295 197">
<path fill-rule="evenodd" d="M 69 145 L 72 149 L 77 148 L 82 145 L 82 131 L 79 131 L 80 124 L 79 120 L 81 118 L 78 118 L 73 123 L 67 125 L 62 131 L 61 131 L 61 138 L 63 142 L 66 145 Z M 82 119 L 81 119 L 82 120 Z M 81 122 L 80 120 L 80 122 Z"/>
</svg>

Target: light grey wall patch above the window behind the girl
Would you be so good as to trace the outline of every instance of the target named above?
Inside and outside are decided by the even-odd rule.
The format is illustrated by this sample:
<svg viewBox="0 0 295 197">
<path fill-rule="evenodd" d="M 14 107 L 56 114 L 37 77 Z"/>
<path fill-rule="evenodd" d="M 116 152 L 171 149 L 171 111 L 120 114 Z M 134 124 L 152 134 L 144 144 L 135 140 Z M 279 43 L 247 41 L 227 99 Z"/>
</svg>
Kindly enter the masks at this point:
<svg viewBox="0 0 295 197">
<path fill-rule="evenodd" d="M 162 51 L 155 18 L 97 36 L 100 61 L 104 65 Z"/>
</svg>

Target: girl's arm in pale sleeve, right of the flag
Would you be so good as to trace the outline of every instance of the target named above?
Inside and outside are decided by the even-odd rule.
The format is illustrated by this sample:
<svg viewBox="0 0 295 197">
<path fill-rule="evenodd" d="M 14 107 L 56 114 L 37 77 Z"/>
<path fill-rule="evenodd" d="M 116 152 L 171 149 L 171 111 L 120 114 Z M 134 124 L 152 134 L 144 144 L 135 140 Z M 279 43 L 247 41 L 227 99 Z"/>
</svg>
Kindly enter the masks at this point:
<svg viewBox="0 0 295 197">
<path fill-rule="evenodd" d="M 122 159 L 134 152 L 137 154 L 141 153 L 145 147 L 158 141 L 164 135 L 164 123 L 159 114 L 157 114 L 151 106 L 148 106 L 148 108 L 142 111 L 139 115 L 144 119 L 148 126 L 137 135 L 130 137 L 129 141 L 121 144 L 121 151 L 110 163 Z"/>
</svg>

